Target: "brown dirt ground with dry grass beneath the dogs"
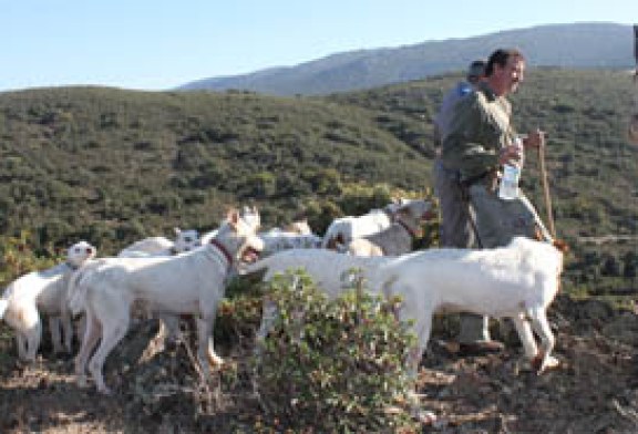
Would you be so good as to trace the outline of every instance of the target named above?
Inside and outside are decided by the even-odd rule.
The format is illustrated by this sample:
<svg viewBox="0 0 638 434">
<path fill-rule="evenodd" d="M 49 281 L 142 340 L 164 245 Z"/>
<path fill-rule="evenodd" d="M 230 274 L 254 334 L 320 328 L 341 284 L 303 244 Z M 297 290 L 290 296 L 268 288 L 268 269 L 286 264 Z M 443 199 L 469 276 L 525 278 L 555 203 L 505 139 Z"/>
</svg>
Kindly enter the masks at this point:
<svg viewBox="0 0 638 434">
<path fill-rule="evenodd" d="M 423 359 L 420 393 L 436 421 L 424 433 L 638 433 L 638 316 L 600 301 L 559 297 L 549 310 L 562 365 L 543 375 L 521 360 L 506 322 L 500 354 L 461 356 L 446 321 Z M 71 356 L 44 344 L 31 365 L 17 362 L 0 326 L 0 433 L 253 433 L 260 407 L 246 364 L 250 339 L 220 353 L 229 362 L 207 390 L 185 345 L 144 352 L 155 323 L 142 322 L 105 365 L 112 396 L 80 389 Z M 321 427 L 318 426 L 318 433 Z"/>
</svg>

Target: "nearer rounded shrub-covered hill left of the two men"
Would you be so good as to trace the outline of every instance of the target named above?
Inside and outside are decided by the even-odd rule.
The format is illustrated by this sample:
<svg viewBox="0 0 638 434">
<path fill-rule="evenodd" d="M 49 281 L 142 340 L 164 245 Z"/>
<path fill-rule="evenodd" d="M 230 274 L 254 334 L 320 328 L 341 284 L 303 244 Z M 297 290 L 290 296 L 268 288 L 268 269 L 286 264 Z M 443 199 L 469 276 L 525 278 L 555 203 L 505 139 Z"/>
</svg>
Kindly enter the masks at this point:
<svg viewBox="0 0 638 434">
<path fill-rule="evenodd" d="M 369 112 L 320 100 L 50 89 L 1 94 L 0 113 L 0 227 L 44 240 L 212 228 L 250 198 L 277 224 L 331 173 L 428 179 L 428 159 Z"/>
</svg>

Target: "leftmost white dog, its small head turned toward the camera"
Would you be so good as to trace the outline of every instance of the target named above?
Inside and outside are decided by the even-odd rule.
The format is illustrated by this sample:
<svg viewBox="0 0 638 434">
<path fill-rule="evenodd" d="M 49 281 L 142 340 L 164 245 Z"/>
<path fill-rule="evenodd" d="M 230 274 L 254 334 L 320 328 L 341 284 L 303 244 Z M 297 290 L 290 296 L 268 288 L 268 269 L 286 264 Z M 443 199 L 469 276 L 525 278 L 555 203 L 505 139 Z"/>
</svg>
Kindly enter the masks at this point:
<svg viewBox="0 0 638 434">
<path fill-rule="evenodd" d="M 0 319 L 16 330 L 18 356 L 33 361 L 42 339 L 41 313 L 49 316 L 53 351 L 71 352 L 73 327 L 66 306 L 71 275 L 95 257 L 95 247 L 86 241 L 68 249 L 66 261 L 43 271 L 32 271 L 10 283 L 0 299 Z M 62 330 L 60 330 L 62 329 Z M 62 345 L 62 340 L 64 345 Z"/>
</svg>

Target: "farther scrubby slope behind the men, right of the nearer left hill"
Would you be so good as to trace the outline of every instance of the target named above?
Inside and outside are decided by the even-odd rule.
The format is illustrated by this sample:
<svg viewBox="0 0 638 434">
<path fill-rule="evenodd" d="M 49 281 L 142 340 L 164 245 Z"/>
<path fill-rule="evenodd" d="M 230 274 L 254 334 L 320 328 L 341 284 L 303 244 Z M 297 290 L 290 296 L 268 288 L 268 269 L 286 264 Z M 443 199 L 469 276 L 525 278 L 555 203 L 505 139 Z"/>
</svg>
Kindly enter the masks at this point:
<svg viewBox="0 0 638 434">
<path fill-rule="evenodd" d="M 439 76 L 330 101 L 379 113 L 379 126 L 426 156 L 431 120 L 454 83 Z M 512 99 L 514 125 L 548 134 L 546 158 L 558 232 L 563 236 L 638 234 L 638 148 L 626 138 L 632 82 L 628 73 L 532 70 Z M 542 188 L 536 155 L 527 158 L 523 186 L 537 206 Z"/>
</svg>

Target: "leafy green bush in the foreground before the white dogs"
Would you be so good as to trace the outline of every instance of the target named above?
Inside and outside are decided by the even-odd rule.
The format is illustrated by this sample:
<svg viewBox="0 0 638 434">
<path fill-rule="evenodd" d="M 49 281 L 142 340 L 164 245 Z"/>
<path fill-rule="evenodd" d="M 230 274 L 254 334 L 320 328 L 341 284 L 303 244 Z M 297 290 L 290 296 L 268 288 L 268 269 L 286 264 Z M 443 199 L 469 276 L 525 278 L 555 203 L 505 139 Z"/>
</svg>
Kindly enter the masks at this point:
<svg viewBox="0 0 638 434">
<path fill-rule="evenodd" d="M 268 286 L 279 314 L 255 372 L 274 428 L 378 433 L 413 423 L 402 405 L 413 388 L 403 361 L 414 335 L 393 314 L 400 300 L 369 294 L 361 282 L 329 300 L 302 271 Z"/>
</svg>

